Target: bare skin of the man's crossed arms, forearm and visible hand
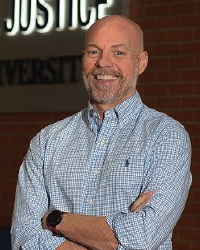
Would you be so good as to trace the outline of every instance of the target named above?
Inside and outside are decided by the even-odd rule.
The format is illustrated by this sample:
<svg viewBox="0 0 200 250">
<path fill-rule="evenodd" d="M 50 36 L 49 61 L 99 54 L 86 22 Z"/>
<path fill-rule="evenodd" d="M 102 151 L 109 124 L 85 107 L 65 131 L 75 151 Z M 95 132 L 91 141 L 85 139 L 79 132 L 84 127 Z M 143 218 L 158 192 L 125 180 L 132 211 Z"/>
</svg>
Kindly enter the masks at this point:
<svg viewBox="0 0 200 250">
<path fill-rule="evenodd" d="M 153 192 L 141 194 L 131 205 L 130 211 L 138 212 L 150 201 L 152 195 Z M 48 212 L 43 217 L 42 226 L 48 230 L 46 225 L 47 215 Z M 114 250 L 119 245 L 105 217 L 64 213 L 63 219 L 56 230 L 69 239 L 56 250 Z"/>
</svg>

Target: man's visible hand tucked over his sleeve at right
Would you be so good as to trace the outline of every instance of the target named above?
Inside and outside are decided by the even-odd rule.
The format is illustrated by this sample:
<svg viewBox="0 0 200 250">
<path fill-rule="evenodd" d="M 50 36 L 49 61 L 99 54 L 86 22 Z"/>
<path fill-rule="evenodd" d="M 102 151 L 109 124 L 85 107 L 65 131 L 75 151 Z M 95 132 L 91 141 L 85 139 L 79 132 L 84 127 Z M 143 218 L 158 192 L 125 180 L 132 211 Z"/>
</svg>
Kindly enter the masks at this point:
<svg viewBox="0 0 200 250">
<path fill-rule="evenodd" d="M 131 212 L 138 212 L 139 210 L 141 210 L 144 207 L 144 205 L 146 205 L 147 202 L 149 202 L 151 200 L 152 195 L 153 195 L 152 191 L 140 194 L 140 196 L 137 198 L 137 200 L 135 200 L 131 204 L 130 211 Z"/>
</svg>

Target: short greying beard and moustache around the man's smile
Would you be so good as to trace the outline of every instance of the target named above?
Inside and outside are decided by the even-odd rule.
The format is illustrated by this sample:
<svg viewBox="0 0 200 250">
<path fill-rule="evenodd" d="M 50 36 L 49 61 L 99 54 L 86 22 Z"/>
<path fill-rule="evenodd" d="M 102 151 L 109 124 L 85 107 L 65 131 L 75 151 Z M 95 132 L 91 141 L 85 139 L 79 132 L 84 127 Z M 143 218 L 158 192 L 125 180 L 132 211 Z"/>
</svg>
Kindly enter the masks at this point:
<svg viewBox="0 0 200 250">
<path fill-rule="evenodd" d="M 108 84 L 98 84 L 98 80 L 95 79 L 96 75 L 111 75 L 116 77 L 115 82 Z M 139 63 L 136 64 L 134 75 L 131 79 L 127 79 L 123 76 L 122 72 L 110 70 L 110 69 L 94 69 L 87 75 L 83 72 L 83 81 L 85 88 L 90 96 L 91 101 L 98 104 L 112 104 L 129 92 L 134 92 L 137 85 L 137 79 L 139 75 Z"/>
</svg>

